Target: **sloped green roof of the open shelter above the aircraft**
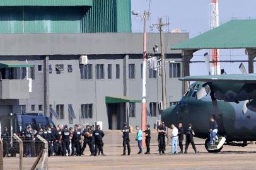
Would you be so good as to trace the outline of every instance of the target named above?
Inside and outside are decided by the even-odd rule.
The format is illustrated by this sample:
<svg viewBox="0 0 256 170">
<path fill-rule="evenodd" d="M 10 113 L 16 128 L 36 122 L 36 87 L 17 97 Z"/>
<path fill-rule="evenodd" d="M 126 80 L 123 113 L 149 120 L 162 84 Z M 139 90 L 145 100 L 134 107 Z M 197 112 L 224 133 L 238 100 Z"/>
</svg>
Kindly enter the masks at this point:
<svg viewBox="0 0 256 170">
<path fill-rule="evenodd" d="M 191 38 L 173 50 L 256 48 L 256 20 L 231 20 Z"/>
</svg>

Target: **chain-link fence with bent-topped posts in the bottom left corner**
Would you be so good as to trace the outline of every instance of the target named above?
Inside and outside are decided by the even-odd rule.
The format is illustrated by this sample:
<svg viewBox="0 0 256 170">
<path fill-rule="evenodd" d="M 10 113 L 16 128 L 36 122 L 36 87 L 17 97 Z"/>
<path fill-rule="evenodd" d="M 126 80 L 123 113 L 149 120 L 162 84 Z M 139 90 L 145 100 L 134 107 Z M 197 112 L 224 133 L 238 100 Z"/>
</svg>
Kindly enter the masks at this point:
<svg viewBox="0 0 256 170">
<path fill-rule="evenodd" d="M 3 139 L 3 169 L 47 169 L 47 144 L 44 139 L 32 140 L 13 135 Z M 1 154 L 0 154 L 1 160 Z M 0 161 L 1 162 L 1 161 Z"/>
</svg>

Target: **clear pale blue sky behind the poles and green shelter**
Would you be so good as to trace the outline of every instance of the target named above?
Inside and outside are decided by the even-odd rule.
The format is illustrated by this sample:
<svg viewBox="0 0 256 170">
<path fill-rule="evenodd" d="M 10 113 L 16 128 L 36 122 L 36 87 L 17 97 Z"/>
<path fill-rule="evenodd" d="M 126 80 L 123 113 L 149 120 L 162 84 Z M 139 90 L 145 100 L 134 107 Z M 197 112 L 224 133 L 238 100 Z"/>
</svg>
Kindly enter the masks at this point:
<svg viewBox="0 0 256 170">
<path fill-rule="evenodd" d="M 209 3 L 210 0 L 132 0 L 132 10 L 143 13 L 144 10 L 150 11 L 148 20 L 148 32 L 151 32 L 149 26 L 158 23 L 158 18 L 161 16 L 163 21 L 170 21 L 170 26 L 166 27 L 165 31 L 171 31 L 173 28 L 180 28 L 183 32 L 189 32 L 190 38 L 200 35 L 209 30 Z M 255 0 L 219 0 L 219 24 L 226 23 L 232 18 L 238 19 L 256 19 Z M 143 20 L 136 16 L 132 16 L 132 31 L 143 31 Z M 154 32 L 157 30 L 154 29 Z M 150 47 L 148 47 L 150 48 Z M 199 50 L 194 54 L 192 60 L 204 60 L 201 57 L 206 50 Z M 247 60 L 248 57 L 245 50 L 221 50 L 221 60 Z M 248 63 L 243 63 L 248 67 Z M 224 69 L 227 74 L 240 73 L 238 69 L 240 63 L 221 63 L 221 69 Z M 256 64 L 255 64 L 256 66 Z M 201 69 L 197 69 L 201 68 Z M 248 70 L 248 69 L 247 69 Z M 190 64 L 190 75 L 207 74 L 206 65 L 204 63 Z"/>
</svg>

